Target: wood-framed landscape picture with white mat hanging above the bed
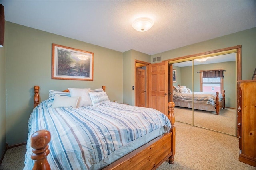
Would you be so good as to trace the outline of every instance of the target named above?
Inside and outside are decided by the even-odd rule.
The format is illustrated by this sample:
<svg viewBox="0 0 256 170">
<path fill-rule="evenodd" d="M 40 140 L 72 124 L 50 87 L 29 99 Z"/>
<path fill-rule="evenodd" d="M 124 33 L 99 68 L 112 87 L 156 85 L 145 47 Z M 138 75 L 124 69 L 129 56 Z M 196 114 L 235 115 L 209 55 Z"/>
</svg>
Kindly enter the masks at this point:
<svg viewBox="0 0 256 170">
<path fill-rule="evenodd" d="M 94 53 L 52 44 L 52 79 L 93 81 Z"/>
</svg>

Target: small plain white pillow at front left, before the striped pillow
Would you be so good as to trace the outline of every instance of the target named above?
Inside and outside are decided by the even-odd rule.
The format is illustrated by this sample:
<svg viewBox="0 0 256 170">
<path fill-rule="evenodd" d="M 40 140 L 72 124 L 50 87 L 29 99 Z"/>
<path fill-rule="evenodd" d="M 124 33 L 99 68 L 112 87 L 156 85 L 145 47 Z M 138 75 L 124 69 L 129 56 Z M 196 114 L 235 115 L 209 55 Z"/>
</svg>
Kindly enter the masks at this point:
<svg viewBox="0 0 256 170">
<path fill-rule="evenodd" d="M 68 97 L 68 96 L 60 96 L 55 94 L 52 108 L 56 107 L 72 107 L 76 108 L 77 102 L 79 97 Z"/>
</svg>

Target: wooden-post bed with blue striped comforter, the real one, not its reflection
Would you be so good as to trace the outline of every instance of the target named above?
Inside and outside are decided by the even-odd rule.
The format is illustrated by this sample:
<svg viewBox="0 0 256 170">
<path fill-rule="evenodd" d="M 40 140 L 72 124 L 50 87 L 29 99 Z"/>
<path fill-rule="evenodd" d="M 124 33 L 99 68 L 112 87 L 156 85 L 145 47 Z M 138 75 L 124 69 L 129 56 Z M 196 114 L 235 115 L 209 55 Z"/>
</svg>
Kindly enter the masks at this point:
<svg viewBox="0 0 256 170">
<path fill-rule="evenodd" d="M 173 102 L 166 117 L 152 108 L 110 101 L 52 108 L 56 104 L 49 107 L 50 95 L 39 102 L 39 86 L 34 92 L 24 169 L 139 170 L 156 169 L 166 160 L 174 163 Z"/>
</svg>

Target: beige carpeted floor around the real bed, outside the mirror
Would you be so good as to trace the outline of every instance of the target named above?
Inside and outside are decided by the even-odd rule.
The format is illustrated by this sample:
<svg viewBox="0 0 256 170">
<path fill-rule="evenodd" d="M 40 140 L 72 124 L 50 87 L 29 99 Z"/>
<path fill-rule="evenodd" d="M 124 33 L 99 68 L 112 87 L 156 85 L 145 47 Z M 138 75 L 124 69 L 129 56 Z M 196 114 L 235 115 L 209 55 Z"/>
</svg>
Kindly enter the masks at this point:
<svg viewBox="0 0 256 170">
<path fill-rule="evenodd" d="M 238 161 L 238 139 L 231 135 L 176 122 L 174 164 L 164 162 L 157 170 L 256 170 Z M 8 149 L 0 169 L 24 168 L 26 146 Z"/>
</svg>

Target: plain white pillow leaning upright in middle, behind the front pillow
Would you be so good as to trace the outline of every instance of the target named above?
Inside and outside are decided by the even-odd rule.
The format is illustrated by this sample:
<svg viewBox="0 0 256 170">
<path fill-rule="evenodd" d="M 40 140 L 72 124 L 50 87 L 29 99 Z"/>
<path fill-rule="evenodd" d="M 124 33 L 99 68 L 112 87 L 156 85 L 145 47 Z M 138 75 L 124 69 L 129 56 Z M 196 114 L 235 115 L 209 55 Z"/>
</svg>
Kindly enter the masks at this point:
<svg viewBox="0 0 256 170">
<path fill-rule="evenodd" d="M 90 88 L 68 88 L 71 97 L 79 96 L 77 107 L 90 106 L 92 101 L 89 96 Z"/>
</svg>

